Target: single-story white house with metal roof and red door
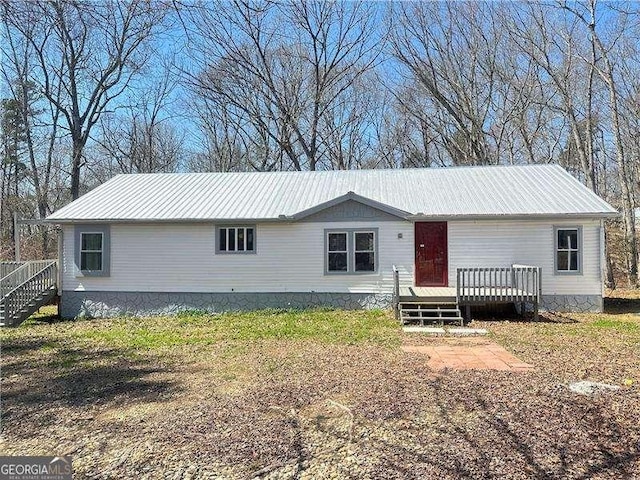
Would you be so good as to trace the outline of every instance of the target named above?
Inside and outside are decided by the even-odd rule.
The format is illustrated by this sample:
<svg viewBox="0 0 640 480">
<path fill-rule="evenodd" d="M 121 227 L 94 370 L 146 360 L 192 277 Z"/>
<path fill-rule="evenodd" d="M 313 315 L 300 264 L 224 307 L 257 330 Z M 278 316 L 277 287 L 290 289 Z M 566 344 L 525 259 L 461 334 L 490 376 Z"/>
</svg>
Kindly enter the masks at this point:
<svg viewBox="0 0 640 480">
<path fill-rule="evenodd" d="M 530 165 L 118 175 L 48 221 L 61 314 L 101 317 L 454 297 L 601 311 L 617 215 Z"/>
</svg>

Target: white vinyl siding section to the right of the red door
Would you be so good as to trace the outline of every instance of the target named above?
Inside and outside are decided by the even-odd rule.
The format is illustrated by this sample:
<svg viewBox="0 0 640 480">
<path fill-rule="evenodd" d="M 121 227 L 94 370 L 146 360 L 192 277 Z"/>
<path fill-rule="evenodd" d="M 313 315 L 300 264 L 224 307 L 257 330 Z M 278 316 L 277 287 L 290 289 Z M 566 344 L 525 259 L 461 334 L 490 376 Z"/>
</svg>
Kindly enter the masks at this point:
<svg viewBox="0 0 640 480">
<path fill-rule="evenodd" d="M 554 228 L 581 227 L 581 274 L 555 271 Z M 449 222 L 449 285 L 455 286 L 458 267 L 506 267 L 514 263 L 542 268 L 546 295 L 602 293 L 600 222 L 573 221 L 457 221 Z"/>
</svg>

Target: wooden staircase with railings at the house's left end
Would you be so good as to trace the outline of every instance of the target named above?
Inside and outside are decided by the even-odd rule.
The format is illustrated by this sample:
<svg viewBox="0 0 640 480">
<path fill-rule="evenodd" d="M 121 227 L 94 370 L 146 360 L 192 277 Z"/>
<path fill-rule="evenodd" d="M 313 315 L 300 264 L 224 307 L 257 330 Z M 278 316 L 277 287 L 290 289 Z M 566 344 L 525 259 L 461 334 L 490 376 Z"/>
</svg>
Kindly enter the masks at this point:
<svg viewBox="0 0 640 480">
<path fill-rule="evenodd" d="M 15 262 L 12 262 L 15 263 Z M 0 279 L 0 326 L 15 327 L 58 293 L 58 262 L 23 262 Z"/>
</svg>

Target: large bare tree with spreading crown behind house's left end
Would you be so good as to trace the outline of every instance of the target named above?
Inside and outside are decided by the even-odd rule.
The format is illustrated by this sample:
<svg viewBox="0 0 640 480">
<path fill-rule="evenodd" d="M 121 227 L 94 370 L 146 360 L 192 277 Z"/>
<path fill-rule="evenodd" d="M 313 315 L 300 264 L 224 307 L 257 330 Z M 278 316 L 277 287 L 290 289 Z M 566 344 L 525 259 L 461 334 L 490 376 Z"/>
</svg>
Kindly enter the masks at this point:
<svg viewBox="0 0 640 480">
<path fill-rule="evenodd" d="M 145 61 L 141 49 L 164 9 L 145 0 L 5 2 L 7 34 L 27 41 L 30 80 L 60 112 L 71 138 L 71 197 L 80 195 L 83 151 L 91 131 Z"/>
</svg>

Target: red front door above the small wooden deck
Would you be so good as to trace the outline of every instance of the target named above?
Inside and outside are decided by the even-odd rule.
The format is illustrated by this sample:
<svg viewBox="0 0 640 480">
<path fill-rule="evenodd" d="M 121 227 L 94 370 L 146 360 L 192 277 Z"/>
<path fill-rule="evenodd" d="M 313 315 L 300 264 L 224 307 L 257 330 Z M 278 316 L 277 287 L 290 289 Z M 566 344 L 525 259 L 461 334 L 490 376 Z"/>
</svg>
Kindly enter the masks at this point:
<svg viewBox="0 0 640 480">
<path fill-rule="evenodd" d="M 416 286 L 446 287 L 447 222 L 416 222 Z"/>
</svg>

